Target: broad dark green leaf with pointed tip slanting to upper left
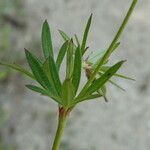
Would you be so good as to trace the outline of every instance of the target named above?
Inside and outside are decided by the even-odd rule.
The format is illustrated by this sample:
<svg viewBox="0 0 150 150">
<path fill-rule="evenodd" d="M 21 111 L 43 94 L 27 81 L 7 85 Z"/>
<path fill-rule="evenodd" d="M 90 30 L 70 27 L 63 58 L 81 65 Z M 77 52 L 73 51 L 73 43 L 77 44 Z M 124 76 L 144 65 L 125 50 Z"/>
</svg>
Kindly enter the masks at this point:
<svg viewBox="0 0 150 150">
<path fill-rule="evenodd" d="M 26 58 L 28 60 L 29 66 L 30 66 L 36 80 L 45 89 L 52 90 L 50 82 L 49 82 L 47 76 L 45 75 L 43 69 L 41 68 L 39 62 L 33 57 L 33 55 L 29 51 L 25 50 L 25 54 L 26 54 Z"/>
</svg>

